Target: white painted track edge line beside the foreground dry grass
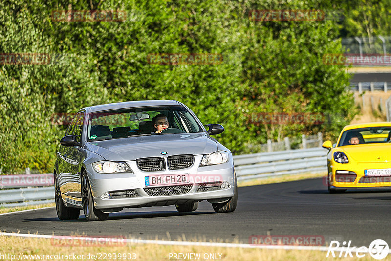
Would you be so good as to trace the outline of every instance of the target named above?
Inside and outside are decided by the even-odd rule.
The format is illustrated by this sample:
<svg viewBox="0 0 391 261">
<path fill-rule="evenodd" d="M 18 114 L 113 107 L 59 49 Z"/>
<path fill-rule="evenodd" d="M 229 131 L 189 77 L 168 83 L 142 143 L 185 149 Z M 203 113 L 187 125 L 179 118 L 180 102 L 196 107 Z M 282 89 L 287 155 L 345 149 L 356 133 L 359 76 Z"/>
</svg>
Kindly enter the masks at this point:
<svg viewBox="0 0 391 261">
<path fill-rule="evenodd" d="M 82 240 L 88 238 L 89 240 L 93 239 L 113 239 L 113 238 L 104 238 L 104 237 L 76 237 L 76 236 L 59 236 L 59 235 L 38 235 L 38 234 L 22 234 L 22 233 L 8 233 L 0 232 L 0 236 L 11 236 L 11 237 L 22 237 L 22 238 L 43 238 L 43 239 L 75 239 Z M 123 238 L 119 238 L 123 239 Z M 145 239 L 125 239 L 125 242 L 130 244 L 158 244 L 158 245 L 181 245 L 181 246 L 213 246 L 213 247 L 238 247 L 238 248 L 261 248 L 261 249 L 283 249 L 283 250 L 318 250 L 318 251 L 327 251 L 328 246 L 288 246 L 288 245 L 250 245 L 243 243 L 217 243 L 217 242 L 189 242 L 189 241 L 165 241 L 165 240 L 145 240 Z M 333 248 L 334 251 L 341 252 L 344 251 L 345 247 Z M 355 250 L 350 251 L 352 253 L 356 252 Z M 366 253 L 366 251 L 360 251 L 361 253 Z M 389 250 L 391 253 L 391 249 Z"/>
</svg>

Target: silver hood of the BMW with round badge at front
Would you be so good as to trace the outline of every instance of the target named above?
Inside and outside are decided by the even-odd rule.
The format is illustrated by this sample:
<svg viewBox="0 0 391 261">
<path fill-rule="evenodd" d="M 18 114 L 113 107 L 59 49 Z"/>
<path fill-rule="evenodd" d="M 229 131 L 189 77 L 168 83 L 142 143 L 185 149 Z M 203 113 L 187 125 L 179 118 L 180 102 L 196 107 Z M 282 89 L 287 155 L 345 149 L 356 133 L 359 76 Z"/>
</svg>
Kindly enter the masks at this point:
<svg viewBox="0 0 391 261">
<path fill-rule="evenodd" d="M 87 142 L 84 147 L 106 160 L 130 161 L 179 154 L 209 154 L 217 151 L 217 142 L 206 133 L 178 133 Z"/>
</svg>

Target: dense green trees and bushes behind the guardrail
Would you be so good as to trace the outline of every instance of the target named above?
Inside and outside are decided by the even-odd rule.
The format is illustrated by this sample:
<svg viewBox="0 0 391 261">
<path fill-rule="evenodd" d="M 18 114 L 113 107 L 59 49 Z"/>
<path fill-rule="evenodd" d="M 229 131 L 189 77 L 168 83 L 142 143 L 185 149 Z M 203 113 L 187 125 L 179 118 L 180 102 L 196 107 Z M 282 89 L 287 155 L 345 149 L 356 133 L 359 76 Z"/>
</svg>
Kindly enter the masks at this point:
<svg viewBox="0 0 391 261">
<path fill-rule="evenodd" d="M 248 17 L 254 9 L 332 8 L 326 1 L 2 1 L 0 53 L 52 56 L 44 65 L 0 64 L 0 169 L 50 172 L 65 130 L 52 115 L 119 101 L 179 100 L 204 124 L 222 124 L 217 138 L 236 154 L 268 138 L 318 131 L 335 137 L 356 113 L 345 68 L 322 61 L 342 53 L 333 41 L 341 22 Z M 68 9 L 128 15 L 122 22 L 51 19 L 53 10 Z M 223 63 L 149 64 L 151 53 L 220 53 Z M 262 112 L 338 117 L 328 124 L 253 123 Z"/>
</svg>

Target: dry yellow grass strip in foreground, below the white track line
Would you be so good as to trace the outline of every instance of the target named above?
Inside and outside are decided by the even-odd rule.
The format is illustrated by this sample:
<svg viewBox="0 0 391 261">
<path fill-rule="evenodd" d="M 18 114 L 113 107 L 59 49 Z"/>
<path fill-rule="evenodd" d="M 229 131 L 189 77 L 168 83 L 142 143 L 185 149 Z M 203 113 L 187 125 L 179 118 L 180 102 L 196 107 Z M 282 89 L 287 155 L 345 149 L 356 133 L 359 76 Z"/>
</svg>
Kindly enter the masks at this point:
<svg viewBox="0 0 391 261">
<path fill-rule="evenodd" d="M 174 260 L 174 254 L 199 254 L 199 259 L 182 259 L 182 260 L 213 260 L 211 257 L 221 257 L 225 261 L 302 261 L 302 260 L 333 260 L 333 261 L 353 261 L 357 258 L 326 258 L 324 251 L 304 251 L 304 250 L 278 250 L 278 249 L 249 249 L 249 248 L 232 248 L 232 247 L 204 247 L 204 246 L 174 246 L 174 245 L 157 245 L 157 244 L 127 244 L 126 246 L 100 246 L 100 247 L 56 247 L 51 244 L 50 239 L 37 238 L 20 238 L 0 236 L 0 253 L 19 255 L 22 260 L 93 260 L 92 255 L 98 255 L 96 260 L 119 260 L 118 256 L 124 253 L 126 259 L 121 260 L 140 260 L 140 261 L 166 261 Z M 170 256 L 171 253 L 171 256 Z M 114 258 L 117 254 L 117 259 Z M 128 258 L 130 254 L 130 258 Z M 212 254 L 212 255 L 211 255 Z M 36 255 L 26 256 L 26 255 Z M 40 255 L 40 256 L 37 256 Z M 55 257 L 54 255 L 58 255 Z M 63 255 L 63 256 L 61 256 Z M 65 259 L 65 255 L 80 255 L 77 259 Z M 89 255 L 89 256 L 87 256 Z M 111 255 L 111 258 L 109 256 Z M 89 257 L 89 259 L 88 259 Z M 104 259 L 104 257 L 106 257 Z M 170 258 L 171 257 L 171 258 Z M 182 256 L 181 256 L 182 257 Z M 208 258 L 209 257 L 209 258 Z M 135 259 L 134 259 L 135 258 Z M 4 256 L 1 260 L 7 260 Z M 11 260 L 11 259 L 8 259 Z M 178 260 L 178 259 L 175 259 Z M 215 259 L 216 260 L 216 259 Z M 360 258 L 361 261 L 373 260 L 366 255 Z M 386 257 L 384 260 L 391 260 Z"/>
</svg>

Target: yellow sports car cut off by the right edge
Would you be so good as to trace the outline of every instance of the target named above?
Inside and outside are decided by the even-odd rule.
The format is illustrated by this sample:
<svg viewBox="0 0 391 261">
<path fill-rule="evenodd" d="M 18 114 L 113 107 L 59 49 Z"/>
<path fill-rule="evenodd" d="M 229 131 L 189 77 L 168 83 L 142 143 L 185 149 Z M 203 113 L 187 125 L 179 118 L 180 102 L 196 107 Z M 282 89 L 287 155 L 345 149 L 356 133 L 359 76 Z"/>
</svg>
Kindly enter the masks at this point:
<svg viewBox="0 0 391 261">
<path fill-rule="evenodd" d="M 391 187 L 391 122 L 347 125 L 327 154 L 330 193 L 348 188 Z"/>
</svg>

